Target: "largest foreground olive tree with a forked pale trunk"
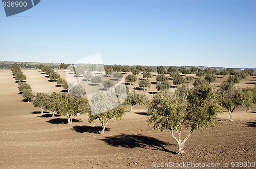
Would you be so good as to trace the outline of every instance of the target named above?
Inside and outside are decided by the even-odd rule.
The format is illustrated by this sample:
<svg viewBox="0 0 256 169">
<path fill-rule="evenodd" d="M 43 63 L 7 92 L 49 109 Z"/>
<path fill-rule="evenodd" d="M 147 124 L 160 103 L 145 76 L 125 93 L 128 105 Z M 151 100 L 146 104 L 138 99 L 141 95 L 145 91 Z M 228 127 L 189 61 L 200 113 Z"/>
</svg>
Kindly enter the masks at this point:
<svg viewBox="0 0 256 169">
<path fill-rule="evenodd" d="M 209 85 L 179 87 L 175 93 L 164 91 L 157 93 L 148 104 L 148 123 L 153 123 L 156 130 L 169 130 L 178 144 L 179 154 L 184 153 L 184 144 L 194 130 L 207 128 L 217 121 L 221 112 L 215 90 Z M 190 131 L 181 139 L 183 128 Z M 175 134 L 177 132 L 177 134 Z"/>
</svg>

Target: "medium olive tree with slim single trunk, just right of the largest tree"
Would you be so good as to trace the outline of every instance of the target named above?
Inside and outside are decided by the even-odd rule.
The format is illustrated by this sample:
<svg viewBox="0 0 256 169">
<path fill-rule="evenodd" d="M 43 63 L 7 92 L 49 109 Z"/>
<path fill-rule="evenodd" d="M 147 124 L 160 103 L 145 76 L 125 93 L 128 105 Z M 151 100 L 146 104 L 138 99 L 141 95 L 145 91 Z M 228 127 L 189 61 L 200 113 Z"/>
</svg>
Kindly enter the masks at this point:
<svg viewBox="0 0 256 169">
<path fill-rule="evenodd" d="M 227 108 L 230 122 L 233 121 L 233 111 L 244 105 L 243 95 L 240 89 L 233 86 L 233 83 L 223 82 L 218 90 L 219 99 L 223 107 Z"/>
</svg>

